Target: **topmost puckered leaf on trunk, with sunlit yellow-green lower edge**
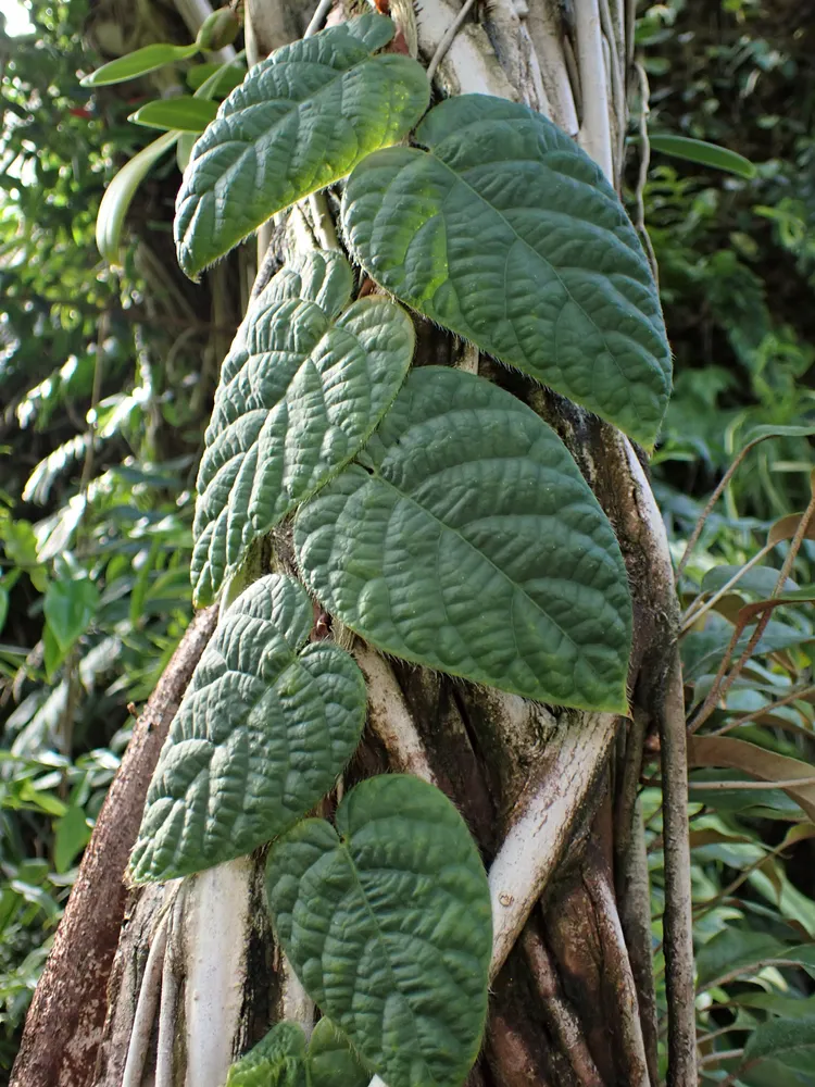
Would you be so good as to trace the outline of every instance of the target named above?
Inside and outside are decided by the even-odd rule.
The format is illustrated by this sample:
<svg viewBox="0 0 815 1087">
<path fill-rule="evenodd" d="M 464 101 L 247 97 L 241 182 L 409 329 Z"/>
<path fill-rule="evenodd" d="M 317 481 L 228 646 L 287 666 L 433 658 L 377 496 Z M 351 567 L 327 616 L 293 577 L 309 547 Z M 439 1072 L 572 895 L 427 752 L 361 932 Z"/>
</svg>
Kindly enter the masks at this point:
<svg viewBox="0 0 815 1087">
<path fill-rule="evenodd" d="M 275 212 L 396 143 L 427 109 L 424 68 L 372 55 L 394 25 L 369 13 L 255 65 L 192 149 L 178 193 L 178 261 L 196 276 Z"/>
</svg>

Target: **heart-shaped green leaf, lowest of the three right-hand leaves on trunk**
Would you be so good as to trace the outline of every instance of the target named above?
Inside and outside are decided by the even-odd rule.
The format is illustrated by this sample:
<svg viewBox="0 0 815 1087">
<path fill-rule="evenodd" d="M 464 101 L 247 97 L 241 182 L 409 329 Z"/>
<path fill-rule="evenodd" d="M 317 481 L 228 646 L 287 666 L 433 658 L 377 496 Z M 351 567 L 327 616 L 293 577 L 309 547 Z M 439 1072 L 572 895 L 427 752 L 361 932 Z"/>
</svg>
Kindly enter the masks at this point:
<svg viewBox="0 0 815 1087">
<path fill-rule="evenodd" d="M 284 949 L 388 1087 L 460 1087 L 484 1029 L 492 944 L 469 833 L 443 794 L 401 775 L 356 786 L 336 822 L 299 823 L 269 854 Z"/>
</svg>

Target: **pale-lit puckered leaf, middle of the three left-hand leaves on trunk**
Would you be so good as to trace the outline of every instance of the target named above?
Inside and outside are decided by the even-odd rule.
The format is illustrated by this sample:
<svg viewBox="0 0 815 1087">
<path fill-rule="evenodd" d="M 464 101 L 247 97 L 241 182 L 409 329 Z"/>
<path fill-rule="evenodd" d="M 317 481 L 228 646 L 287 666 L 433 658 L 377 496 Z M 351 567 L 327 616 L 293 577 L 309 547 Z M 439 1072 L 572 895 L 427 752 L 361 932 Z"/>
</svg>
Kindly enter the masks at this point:
<svg viewBox="0 0 815 1087">
<path fill-rule="evenodd" d="M 275 276 L 233 343 L 198 474 L 199 603 L 255 537 L 351 460 L 404 380 L 410 317 L 385 298 L 348 305 L 352 286 L 339 253 L 311 253 L 301 271 Z"/>
</svg>

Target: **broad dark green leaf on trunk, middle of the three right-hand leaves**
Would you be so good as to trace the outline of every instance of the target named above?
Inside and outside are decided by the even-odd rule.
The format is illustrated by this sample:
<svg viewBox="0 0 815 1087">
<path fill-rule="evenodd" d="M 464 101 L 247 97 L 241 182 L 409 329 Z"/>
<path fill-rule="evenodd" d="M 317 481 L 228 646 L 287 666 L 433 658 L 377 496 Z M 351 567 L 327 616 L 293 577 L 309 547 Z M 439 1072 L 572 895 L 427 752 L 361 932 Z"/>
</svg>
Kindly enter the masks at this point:
<svg viewBox="0 0 815 1087">
<path fill-rule="evenodd" d="M 566 447 L 484 378 L 413 371 L 302 507 L 323 603 L 389 653 L 562 705 L 625 711 L 631 612 L 614 533 Z"/>
</svg>

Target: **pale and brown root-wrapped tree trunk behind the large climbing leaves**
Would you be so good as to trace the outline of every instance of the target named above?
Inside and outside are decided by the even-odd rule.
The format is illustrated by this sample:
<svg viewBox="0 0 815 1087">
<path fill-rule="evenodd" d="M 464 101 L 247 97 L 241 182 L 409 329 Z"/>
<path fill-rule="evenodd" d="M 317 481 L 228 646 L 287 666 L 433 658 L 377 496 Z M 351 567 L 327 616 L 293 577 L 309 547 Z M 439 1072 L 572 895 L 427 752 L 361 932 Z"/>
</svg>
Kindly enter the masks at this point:
<svg viewBox="0 0 815 1087">
<path fill-rule="evenodd" d="M 281 43 L 280 28 L 304 25 L 300 7 L 298 0 L 250 0 L 261 55 Z M 411 0 L 390 3 L 408 47 L 417 42 L 425 62 L 460 8 L 457 0 L 422 0 L 414 13 Z M 574 9 L 559 0 L 489 0 L 477 21 L 471 15 L 459 29 L 437 82 L 448 95 L 479 91 L 528 103 L 575 137 L 618 185 L 631 8 L 624 0 L 577 0 Z M 321 237 L 313 201 L 289 229 L 276 221 L 255 289 L 283 259 L 310 245 L 297 234 L 304 217 Z M 637 713 L 626 721 L 544 709 L 391 664 L 358 639 L 368 722 L 343 784 L 389 767 L 435 780 L 481 848 L 496 937 L 489 1022 L 471 1084 L 656 1087 L 648 871 L 637 804 L 647 727 L 661 725 L 663 748 L 673 752 L 678 745 L 680 764 L 682 752 L 676 727 L 668 733 L 676 714 L 667 696 L 680 697 L 669 683 L 673 572 L 644 455 L 597 417 L 416 322 L 416 365 L 477 370 L 509 388 L 557 430 L 594 490 L 631 584 L 629 690 Z M 278 550 L 286 566 L 285 541 Z M 681 765 L 675 782 L 681 785 Z M 674 841 L 680 865 L 681 825 Z M 131 895 L 96 1071 L 86 1069 L 83 1078 L 61 1067 L 48 1087 L 222 1087 L 229 1063 L 274 1021 L 297 1020 L 309 1030 L 314 1007 L 267 921 L 262 853 Z M 679 899 L 666 946 L 676 1005 L 669 1083 L 687 1087 L 695 1070 L 687 912 Z M 49 1039 L 40 1034 L 37 1044 L 48 1048 Z M 20 1069 L 13 1084 L 47 1087 Z"/>
</svg>

